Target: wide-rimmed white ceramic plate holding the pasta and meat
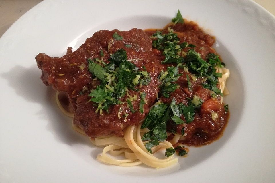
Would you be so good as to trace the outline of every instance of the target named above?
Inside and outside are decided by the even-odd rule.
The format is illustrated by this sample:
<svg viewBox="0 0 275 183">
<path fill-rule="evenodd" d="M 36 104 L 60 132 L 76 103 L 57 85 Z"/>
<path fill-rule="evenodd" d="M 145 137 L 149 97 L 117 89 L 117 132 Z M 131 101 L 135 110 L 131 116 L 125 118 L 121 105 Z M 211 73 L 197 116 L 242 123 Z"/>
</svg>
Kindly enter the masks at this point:
<svg viewBox="0 0 275 183">
<path fill-rule="evenodd" d="M 97 162 L 40 80 L 35 56 L 62 56 L 100 29 L 162 28 L 176 11 L 215 35 L 230 69 L 231 117 L 216 142 L 165 169 Z M 275 17 L 247 0 L 54 1 L 0 39 L 0 182 L 274 182 Z"/>
</svg>

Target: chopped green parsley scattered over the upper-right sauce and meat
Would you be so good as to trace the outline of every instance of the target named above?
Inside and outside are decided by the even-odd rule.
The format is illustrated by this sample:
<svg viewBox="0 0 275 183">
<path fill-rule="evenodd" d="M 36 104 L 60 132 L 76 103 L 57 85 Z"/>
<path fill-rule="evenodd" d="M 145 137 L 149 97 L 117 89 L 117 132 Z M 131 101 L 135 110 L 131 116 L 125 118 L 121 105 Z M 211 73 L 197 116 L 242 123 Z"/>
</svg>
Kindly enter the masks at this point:
<svg viewBox="0 0 275 183">
<path fill-rule="evenodd" d="M 182 15 L 178 10 L 178 13 L 175 18 L 172 19 L 172 22 L 184 23 Z M 210 89 L 214 92 L 213 95 L 223 95 L 221 90 L 217 88 L 217 83 L 219 77 L 222 77 L 222 73 L 216 73 L 215 67 L 224 67 L 225 64 L 221 62 L 219 56 L 214 53 L 209 53 L 206 57 L 207 61 L 201 58 L 201 55 L 197 53 L 194 49 L 189 49 L 187 52 L 183 51 L 184 48 L 196 47 L 193 44 L 188 44 L 187 42 L 180 43 L 178 35 L 174 33 L 171 27 L 168 29 L 169 33 L 163 34 L 162 31 L 156 31 L 150 38 L 152 39 L 152 46 L 160 51 L 162 55 L 165 55 L 165 59 L 161 62 L 166 63 L 177 63 L 182 64 L 181 67 L 184 68 L 185 72 L 192 73 L 192 80 L 197 77 L 205 77 L 206 80 L 202 83 L 204 88 Z M 169 67 L 168 67 L 169 69 Z M 170 71 L 162 72 L 160 80 L 164 79 L 167 73 Z M 168 77 L 167 77 L 168 78 Z M 164 97 L 170 97 L 170 92 L 174 92 L 179 86 L 176 83 L 163 82 L 161 93 Z M 188 89 L 191 90 L 191 82 L 189 77 L 187 77 Z"/>
</svg>

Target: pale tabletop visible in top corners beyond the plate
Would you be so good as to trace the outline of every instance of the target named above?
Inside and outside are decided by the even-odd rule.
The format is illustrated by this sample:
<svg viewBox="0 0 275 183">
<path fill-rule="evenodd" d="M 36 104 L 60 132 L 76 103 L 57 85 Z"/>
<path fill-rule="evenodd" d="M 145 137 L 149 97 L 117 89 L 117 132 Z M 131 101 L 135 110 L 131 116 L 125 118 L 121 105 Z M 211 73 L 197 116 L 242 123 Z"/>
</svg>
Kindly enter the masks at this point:
<svg viewBox="0 0 275 183">
<path fill-rule="evenodd" d="M 29 9 L 42 0 L 0 0 L 0 37 Z M 254 0 L 275 15 L 275 0 Z"/>
</svg>

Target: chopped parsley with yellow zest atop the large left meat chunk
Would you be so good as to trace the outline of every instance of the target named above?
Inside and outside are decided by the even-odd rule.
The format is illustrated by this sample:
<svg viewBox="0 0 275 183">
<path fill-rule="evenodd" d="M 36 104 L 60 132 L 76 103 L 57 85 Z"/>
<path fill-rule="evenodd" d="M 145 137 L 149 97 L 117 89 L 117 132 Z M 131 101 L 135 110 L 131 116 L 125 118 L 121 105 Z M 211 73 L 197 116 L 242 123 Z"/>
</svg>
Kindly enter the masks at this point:
<svg viewBox="0 0 275 183">
<path fill-rule="evenodd" d="M 102 110 L 109 112 L 111 105 L 122 104 L 119 99 L 125 96 L 129 89 L 137 91 L 135 86 L 140 84 L 141 79 L 146 79 L 148 82 L 151 79 L 146 71 L 140 71 L 135 64 L 127 60 L 127 54 L 124 49 L 119 49 L 111 54 L 108 61 L 109 63 L 102 67 L 93 62 L 92 59 L 88 59 L 88 70 L 101 80 L 101 84 L 96 89 L 91 90 L 89 94 L 90 100 L 97 104 L 96 112 L 99 111 L 100 114 L 102 114 Z M 146 93 L 143 92 L 140 105 L 140 112 L 142 113 L 143 105 L 146 103 L 144 101 L 145 96 Z M 132 113 L 136 112 L 131 100 L 127 100 L 127 104 Z"/>
</svg>

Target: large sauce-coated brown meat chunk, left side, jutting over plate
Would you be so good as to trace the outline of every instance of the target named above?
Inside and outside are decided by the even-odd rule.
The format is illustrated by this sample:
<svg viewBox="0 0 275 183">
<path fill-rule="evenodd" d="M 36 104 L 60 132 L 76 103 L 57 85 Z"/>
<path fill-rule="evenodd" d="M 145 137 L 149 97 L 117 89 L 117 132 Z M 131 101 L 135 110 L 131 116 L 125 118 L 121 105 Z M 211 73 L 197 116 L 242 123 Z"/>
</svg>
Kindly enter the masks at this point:
<svg viewBox="0 0 275 183">
<path fill-rule="evenodd" d="M 113 37 L 115 32 L 121 35 L 123 40 L 116 40 Z M 125 47 L 126 44 L 131 47 Z M 100 115 L 99 112 L 95 112 L 97 109 L 95 103 L 89 101 L 90 90 L 95 89 L 100 82 L 94 80 L 95 76 L 88 71 L 87 59 L 99 58 L 108 63 L 110 54 L 120 48 L 125 49 L 128 61 L 139 68 L 145 66 L 152 80 L 149 85 L 144 85 L 142 88 L 137 86 L 140 89 L 138 92 L 129 91 L 129 95 L 138 96 L 137 100 L 132 101 L 134 109 L 137 110 L 135 113 L 130 112 L 127 104 L 116 104 L 109 108 L 109 113 L 103 110 L 103 114 Z M 70 102 L 74 103 L 70 106 L 74 110 L 74 124 L 82 128 L 92 138 L 107 135 L 123 136 L 124 128 L 139 124 L 149 112 L 149 107 L 156 100 L 156 94 L 159 91 L 160 83 L 157 77 L 160 69 L 157 65 L 152 64 L 154 62 L 152 41 L 140 29 L 101 30 L 94 33 L 74 52 L 68 48 L 67 54 L 61 58 L 52 58 L 44 53 L 39 53 L 36 56 L 36 61 L 38 68 L 42 70 L 43 82 L 46 85 L 52 85 L 55 90 L 68 93 Z M 146 92 L 147 104 L 144 105 L 143 114 L 138 111 L 140 92 Z M 127 98 L 128 96 L 125 95 L 120 100 L 125 102 Z"/>
</svg>

